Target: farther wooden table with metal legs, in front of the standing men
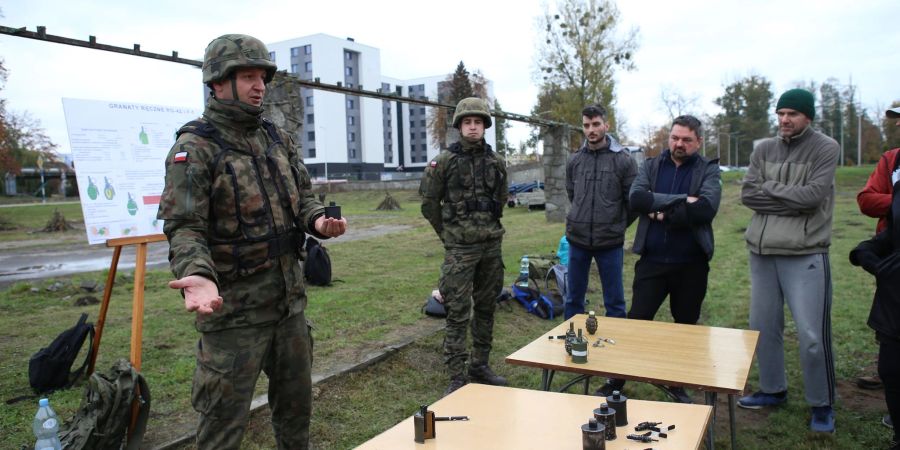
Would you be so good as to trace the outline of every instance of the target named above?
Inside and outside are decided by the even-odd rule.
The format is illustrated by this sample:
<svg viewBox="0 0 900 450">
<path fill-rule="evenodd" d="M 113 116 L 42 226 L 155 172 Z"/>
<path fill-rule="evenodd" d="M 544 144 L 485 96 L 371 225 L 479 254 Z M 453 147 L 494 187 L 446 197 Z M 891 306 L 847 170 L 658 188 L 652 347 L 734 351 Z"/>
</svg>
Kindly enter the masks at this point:
<svg viewBox="0 0 900 450">
<path fill-rule="evenodd" d="M 506 362 L 541 369 L 544 390 L 550 390 L 553 373 L 563 371 L 699 389 L 713 408 L 717 394 L 727 394 L 734 448 L 735 399 L 747 383 L 758 331 L 597 317 L 597 333 L 592 336 L 584 326 L 586 318 L 580 314 L 561 323 L 506 357 Z M 563 340 L 548 339 L 565 334 L 569 322 L 575 323 L 576 330 L 585 330 L 589 342 L 586 364 L 572 363 Z M 615 345 L 603 342 L 604 347 L 594 347 L 600 336 L 613 339 Z M 708 448 L 713 448 L 714 425 L 715 414 L 709 427 Z"/>
</svg>

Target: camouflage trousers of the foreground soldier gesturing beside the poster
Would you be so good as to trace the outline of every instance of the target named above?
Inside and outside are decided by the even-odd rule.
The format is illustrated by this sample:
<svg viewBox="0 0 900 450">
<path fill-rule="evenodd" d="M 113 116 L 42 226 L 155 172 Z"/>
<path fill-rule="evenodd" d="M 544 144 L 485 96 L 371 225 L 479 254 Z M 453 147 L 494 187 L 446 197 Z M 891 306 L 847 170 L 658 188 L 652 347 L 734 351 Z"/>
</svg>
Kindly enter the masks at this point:
<svg viewBox="0 0 900 450">
<path fill-rule="evenodd" d="M 240 447 L 260 371 L 269 377 L 278 448 L 308 448 L 312 347 L 302 312 L 271 325 L 203 333 L 191 393 L 200 413 L 197 448 Z"/>
</svg>

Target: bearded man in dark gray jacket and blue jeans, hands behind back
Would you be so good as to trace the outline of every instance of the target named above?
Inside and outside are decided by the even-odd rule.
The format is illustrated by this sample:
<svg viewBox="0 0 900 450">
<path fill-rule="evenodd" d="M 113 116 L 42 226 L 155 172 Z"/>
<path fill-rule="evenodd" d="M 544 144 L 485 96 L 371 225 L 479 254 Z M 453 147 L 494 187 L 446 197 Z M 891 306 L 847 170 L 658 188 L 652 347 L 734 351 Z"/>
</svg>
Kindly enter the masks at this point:
<svg viewBox="0 0 900 450">
<path fill-rule="evenodd" d="M 622 246 L 625 229 L 635 218 L 628 210 L 628 190 L 637 165 L 628 150 L 606 134 L 606 109 L 591 105 L 581 115 L 586 142 L 566 164 L 566 193 L 572 207 L 566 216 L 569 295 L 564 317 L 584 312 L 591 260 L 600 272 L 606 315 L 625 317 Z"/>
</svg>

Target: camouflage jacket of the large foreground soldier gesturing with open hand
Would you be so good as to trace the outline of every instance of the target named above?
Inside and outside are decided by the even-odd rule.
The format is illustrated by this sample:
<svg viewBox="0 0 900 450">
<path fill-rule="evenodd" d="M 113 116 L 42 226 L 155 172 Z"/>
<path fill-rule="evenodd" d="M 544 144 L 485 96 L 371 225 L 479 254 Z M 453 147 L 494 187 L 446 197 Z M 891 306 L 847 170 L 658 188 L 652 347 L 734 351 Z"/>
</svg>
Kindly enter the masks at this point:
<svg viewBox="0 0 900 450">
<path fill-rule="evenodd" d="M 299 248 L 304 232 L 323 237 L 313 224 L 324 207 L 290 138 L 278 130 L 278 144 L 258 116 L 214 98 L 200 122 L 229 148 L 191 124 L 179 130 L 158 214 L 175 277 L 209 278 L 224 299 L 220 310 L 198 316 L 197 328 L 264 324 L 302 311 Z"/>
</svg>

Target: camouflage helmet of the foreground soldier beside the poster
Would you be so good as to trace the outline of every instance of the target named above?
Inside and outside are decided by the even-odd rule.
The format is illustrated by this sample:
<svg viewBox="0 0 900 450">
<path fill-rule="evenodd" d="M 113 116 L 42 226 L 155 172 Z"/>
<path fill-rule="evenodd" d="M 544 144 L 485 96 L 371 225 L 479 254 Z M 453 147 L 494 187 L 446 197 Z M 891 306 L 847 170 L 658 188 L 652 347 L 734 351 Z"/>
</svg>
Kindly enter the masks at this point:
<svg viewBox="0 0 900 450">
<path fill-rule="evenodd" d="M 268 83 L 275 76 L 278 66 L 269 59 L 266 44 L 246 34 L 226 34 L 212 40 L 206 46 L 203 56 L 203 83 L 210 83 L 228 78 L 235 69 L 241 67 L 259 67 L 265 69 Z"/>
</svg>

